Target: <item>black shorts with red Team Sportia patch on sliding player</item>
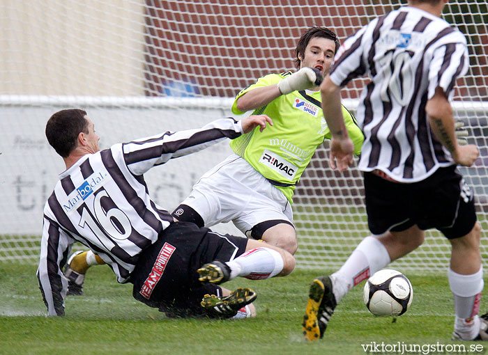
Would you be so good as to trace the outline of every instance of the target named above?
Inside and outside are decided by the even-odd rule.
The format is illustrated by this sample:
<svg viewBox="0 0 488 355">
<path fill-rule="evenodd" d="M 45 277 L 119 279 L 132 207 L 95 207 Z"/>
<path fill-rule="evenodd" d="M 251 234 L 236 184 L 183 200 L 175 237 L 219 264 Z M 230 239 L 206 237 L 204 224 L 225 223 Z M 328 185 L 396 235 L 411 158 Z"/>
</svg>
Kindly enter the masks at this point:
<svg viewBox="0 0 488 355">
<path fill-rule="evenodd" d="M 202 297 L 221 295 L 221 289 L 199 282 L 197 269 L 213 260 L 236 258 L 245 252 L 246 245 L 246 238 L 220 235 L 194 223 L 171 223 L 158 241 L 141 253 L 130 276 L 132 295 L 173 317 L 204 315 Z"/>
</svg>

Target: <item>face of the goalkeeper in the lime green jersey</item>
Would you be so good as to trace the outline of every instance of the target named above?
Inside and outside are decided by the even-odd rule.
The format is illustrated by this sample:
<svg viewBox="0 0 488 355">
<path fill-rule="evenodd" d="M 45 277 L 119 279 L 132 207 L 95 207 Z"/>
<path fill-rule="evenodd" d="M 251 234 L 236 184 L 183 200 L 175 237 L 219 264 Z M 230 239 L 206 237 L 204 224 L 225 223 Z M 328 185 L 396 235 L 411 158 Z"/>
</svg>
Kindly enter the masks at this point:
<svg viewBox="0 0 488 355">
<path fill-rule="evenodd" d="M 334 61 L 335 42 L 328 38 L 314 37 L 308 42 L 303 58 L 300 58 L 300 68 L 310 67 L 320 70 L 322 75 L 328 73 Z"/>
</svg>

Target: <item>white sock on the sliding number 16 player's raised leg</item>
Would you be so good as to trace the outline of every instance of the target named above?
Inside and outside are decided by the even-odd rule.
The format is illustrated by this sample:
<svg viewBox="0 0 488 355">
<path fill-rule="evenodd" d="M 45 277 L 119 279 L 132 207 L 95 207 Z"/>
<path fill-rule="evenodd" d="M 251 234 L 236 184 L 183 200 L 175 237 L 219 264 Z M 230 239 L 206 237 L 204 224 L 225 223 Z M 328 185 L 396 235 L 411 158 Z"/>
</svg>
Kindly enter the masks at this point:
<svg viewBox="0 0 488 355">
<path fill-rule="evenodd" d="M 231 279 L 243 276 L 252 280 L 270 278 L 283 269 L 283 258 L 271 248 L 254 248 L 226 262 L 231 268 Z"/>
</svg>

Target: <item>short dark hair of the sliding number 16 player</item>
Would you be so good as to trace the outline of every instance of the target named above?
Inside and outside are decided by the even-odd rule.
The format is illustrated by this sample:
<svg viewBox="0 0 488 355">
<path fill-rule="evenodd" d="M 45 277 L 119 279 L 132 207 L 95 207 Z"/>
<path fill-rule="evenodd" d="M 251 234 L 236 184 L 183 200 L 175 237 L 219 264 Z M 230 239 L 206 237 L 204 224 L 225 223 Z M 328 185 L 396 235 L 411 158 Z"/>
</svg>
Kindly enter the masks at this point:
<svg viewBox="0 0 488 355">
<path fill-rule="evenodd" d="M 77 147 L 78 134 L 88 134 L 86 111 L 80 109 L 61 110 L 49 118 L 46 124 L 46 138 L 49 144 L 63 158 L 67 158 Z"/>
</svg>

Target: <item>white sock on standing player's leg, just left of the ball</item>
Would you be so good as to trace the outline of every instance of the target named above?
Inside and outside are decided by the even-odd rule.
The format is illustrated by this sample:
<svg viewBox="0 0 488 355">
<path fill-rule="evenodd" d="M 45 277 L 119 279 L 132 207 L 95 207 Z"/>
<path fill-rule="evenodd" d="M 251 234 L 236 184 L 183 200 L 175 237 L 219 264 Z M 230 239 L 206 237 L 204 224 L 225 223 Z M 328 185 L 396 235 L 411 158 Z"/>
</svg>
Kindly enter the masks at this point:
<svg viewBox="0 0 488 355">
<path fill-rule="evenodd" d="M 352 287 L 386 267 L 390 261 L 383 243 L 375 237 L 365 237 L 342 267 L 331 275 L 335 300 L 339 302 Z"/>
</svg>

